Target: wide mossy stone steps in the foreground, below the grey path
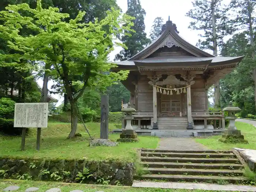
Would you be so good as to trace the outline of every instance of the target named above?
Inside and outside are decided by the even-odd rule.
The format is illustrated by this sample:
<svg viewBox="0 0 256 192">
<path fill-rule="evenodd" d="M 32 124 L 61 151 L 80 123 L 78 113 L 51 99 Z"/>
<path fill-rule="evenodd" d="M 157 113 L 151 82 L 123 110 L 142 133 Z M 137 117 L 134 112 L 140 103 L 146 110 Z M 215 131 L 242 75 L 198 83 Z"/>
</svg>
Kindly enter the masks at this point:
<svg viewBox="0 0 256 192">
<path fill-rule="evenodd" d="M 188 146 L 189 147 L 189 146 Z M 232 151 L 170 151 L 142 149 L 142 180 L 244 183 L 244 166 Z"/>
</svg>

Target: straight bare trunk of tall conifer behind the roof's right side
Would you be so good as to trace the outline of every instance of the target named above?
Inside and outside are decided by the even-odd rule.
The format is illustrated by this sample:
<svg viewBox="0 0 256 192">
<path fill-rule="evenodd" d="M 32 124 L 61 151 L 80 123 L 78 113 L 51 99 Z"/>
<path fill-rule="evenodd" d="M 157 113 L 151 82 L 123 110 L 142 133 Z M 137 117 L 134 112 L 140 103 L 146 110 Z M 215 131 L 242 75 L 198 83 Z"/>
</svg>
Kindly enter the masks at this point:
<svg viewBox="0 0 256 192">
<path fill-rule="evenodd" d="M 216 17 L 215 17 L 215 1 L 211 1 L 211 11 L 212 11 L 212 44 L 213 44 L 213 54 L 218 56 L 217 50 L 217 33 L 216 33 Z M 221 90 L 219 88 L 219 81 L 214 84 L 214 108 L 219 107 L 219 98 L 221 95 Z"/>
</svg>

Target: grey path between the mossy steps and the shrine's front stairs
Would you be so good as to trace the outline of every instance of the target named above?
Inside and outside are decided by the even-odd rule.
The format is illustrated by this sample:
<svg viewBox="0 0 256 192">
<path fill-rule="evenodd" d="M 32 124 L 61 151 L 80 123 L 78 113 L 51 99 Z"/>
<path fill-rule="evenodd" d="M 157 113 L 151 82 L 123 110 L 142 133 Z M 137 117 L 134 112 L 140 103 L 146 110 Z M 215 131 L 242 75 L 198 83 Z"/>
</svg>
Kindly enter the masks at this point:
<svg viewBox="0 0 256 192">
<path fill-rule="evenodd" d="M 256 121 L 255 121 L 256 122 Z M 207 150 L 206 146 L 196 143 L 193 138 L 160 138 L 158 149 L 162 150 Z"/>
</svg>

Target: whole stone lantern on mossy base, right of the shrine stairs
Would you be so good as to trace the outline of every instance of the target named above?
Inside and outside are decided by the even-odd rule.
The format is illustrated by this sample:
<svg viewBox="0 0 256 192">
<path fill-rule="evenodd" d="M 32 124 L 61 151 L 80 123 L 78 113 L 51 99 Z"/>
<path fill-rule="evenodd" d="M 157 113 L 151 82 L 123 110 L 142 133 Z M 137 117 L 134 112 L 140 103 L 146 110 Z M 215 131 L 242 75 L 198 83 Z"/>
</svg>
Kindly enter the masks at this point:
<svg viewBox="0 0 256 192">
<path fill-rule="evenodd" d="M 220 139 L 224 143 L 247 143 L 248 141 L 244 140 L 244 135 L 241 135 L 241 131 L 237 130 L 235 125 L 236 116 L 235 114 L 238 111 L 241 111 L 240 108 L 233 106 L 232 101 L 229 102 L 229 106 L 224 108 L 223 111 L 227 111 L 229 115 L 225 117 L 229 120 L 229 127 L 225 130 Z"/>
</svg>

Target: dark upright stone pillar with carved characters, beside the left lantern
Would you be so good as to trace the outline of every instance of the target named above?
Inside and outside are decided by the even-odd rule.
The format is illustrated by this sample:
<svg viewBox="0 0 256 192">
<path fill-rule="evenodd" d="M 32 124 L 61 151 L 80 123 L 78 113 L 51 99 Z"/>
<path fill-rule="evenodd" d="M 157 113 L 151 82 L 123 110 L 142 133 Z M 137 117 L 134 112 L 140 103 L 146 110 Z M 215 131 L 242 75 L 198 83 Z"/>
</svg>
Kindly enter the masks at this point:
<svg viewBox="0 0 256 192">
<path fill-rule="evenodd" d="M 101 95 L 101 139 L 109 138 L 109 96 Z"/>
</svg>

